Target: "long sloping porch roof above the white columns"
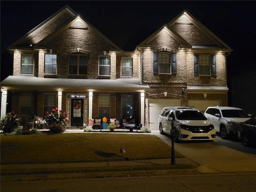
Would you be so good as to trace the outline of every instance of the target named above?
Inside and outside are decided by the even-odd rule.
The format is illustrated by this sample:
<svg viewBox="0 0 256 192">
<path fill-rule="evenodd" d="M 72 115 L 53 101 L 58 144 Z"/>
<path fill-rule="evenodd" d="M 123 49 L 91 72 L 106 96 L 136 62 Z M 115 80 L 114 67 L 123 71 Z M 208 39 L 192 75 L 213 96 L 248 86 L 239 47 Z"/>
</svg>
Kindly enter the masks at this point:
<svg viewBox="0 0 256 192">
<path fill-rule="evenodd" d="M 143 91 L 148 85 L 142 85 L 139 78 L 119 79 L 70 79 L 38 78 L 34 76 L 8 76 L 1 82 L 1 88 L 7 90 L 83 90 L 83 91 Z"/>
</svg>

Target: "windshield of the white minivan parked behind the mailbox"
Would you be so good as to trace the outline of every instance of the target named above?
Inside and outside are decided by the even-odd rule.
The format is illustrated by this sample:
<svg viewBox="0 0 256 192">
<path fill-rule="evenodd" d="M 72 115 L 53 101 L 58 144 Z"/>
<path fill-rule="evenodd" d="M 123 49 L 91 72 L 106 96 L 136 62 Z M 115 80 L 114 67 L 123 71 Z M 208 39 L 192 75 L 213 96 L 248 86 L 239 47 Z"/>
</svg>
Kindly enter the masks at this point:
<svg viewBox="0 0 256 192">
<path fill-rule="evenodd" d="M 207 118 L 200 111 L 180 110 L 175 111 L 178 120 L 207 120 Z"/>
</svg>

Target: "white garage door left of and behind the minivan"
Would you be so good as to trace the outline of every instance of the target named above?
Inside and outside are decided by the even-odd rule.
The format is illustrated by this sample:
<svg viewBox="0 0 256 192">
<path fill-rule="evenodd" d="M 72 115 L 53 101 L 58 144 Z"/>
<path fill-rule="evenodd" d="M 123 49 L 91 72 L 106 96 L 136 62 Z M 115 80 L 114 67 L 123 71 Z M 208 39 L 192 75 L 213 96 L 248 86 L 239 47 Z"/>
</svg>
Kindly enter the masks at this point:
<svg viewBox="0 0 256 192">
<path fill-rule="evenodd" d="M 158 130 L 158 117 L 164 107 L 181 106 L 181 99 L 149 99 L 148 100 L 148 127 Z"/>
</svg>

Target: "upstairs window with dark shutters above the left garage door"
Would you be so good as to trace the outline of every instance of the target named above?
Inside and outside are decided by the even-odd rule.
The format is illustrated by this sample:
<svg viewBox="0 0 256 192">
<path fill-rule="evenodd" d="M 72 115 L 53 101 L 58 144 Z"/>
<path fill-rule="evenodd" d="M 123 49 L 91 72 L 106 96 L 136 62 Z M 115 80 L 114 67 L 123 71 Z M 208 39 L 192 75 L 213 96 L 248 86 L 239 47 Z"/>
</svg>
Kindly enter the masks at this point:
<svg viewBox="0 0 256 192">
<path fill-rule="evenodd" d="M 155 52 L 153 71 L 154 74 L 176 74 L 176 53 Z"/>
</svg>

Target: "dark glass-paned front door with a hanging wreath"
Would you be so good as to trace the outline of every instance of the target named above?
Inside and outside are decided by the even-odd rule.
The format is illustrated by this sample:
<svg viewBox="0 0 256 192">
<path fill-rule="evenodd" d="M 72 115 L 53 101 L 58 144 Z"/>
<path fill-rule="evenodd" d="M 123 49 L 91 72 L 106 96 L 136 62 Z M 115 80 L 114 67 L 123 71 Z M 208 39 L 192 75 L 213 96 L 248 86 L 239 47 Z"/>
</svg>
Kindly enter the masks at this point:
<svg viewBox="0 0 256 192">
<path fill-rule="evenodd" d="M 84 99 L 71 99 L 71 126 L 83 126 L 84 121 Z"/>
</svg>

